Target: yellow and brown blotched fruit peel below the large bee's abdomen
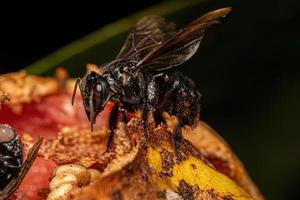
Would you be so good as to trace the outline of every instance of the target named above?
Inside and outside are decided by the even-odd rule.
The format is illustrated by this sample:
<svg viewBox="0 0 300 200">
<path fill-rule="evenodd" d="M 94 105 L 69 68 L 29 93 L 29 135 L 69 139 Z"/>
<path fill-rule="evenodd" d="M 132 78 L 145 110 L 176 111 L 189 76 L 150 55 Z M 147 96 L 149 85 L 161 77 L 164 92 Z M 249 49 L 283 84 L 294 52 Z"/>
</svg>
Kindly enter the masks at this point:
<svg viewBox="0 0 300 200">
<path fill-rule="evenodd" d="M 127 126 L 129 135 L 142 133 L 140 124 Z M 173 191 L 183 199 L 253 199 L 234 181 L 202 161 L 200 154 L 191 153 L 189 143 L 179 151 L 178 159 L 166 127 L 150 129 L 150 136 L 141 145 L 134 160 L 120 170 L 103 177 L 95 185 L 74 190 L 73 199 L 161 199 Z M 121 157 L 125 159 L 126 156 Z"/>
</svg>

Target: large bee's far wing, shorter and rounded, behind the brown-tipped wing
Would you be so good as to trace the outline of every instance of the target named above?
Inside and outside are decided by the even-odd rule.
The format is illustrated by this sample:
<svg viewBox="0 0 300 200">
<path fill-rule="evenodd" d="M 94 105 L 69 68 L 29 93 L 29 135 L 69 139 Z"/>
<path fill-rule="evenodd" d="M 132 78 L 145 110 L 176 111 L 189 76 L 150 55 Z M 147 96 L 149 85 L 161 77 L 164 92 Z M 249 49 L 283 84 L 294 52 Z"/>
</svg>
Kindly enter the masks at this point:
<svg viewBox="0 0 300 200">
<path fill-rule="evenodd" d="M 176 33 L 176 25 L 166 22 L 159 16 L 146 16 L 140 19 L 129 33 L 124 46 L 116 57 L 118 60 L 139 62 L 155 47 Z M 107 65 L 104 70 L 111 70 L 114 65 Z"/>
</svg>

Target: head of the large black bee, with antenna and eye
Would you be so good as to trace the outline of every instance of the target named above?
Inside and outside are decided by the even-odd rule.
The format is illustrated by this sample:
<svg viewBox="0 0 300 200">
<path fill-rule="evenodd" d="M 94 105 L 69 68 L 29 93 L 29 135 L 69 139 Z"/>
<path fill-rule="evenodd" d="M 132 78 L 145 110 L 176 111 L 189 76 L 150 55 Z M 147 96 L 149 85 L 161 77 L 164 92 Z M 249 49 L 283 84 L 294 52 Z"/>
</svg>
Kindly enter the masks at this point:
<svg viewBox="0 0 300 200">
<path fill-rule="evenodd" d="M 74 103 L 77 86 L 79 86 L 84 109 L 91 123 L 91 129 L 93 130 L 96 116 L 103 110 L 112 96 L 112 92 L 107 80 L 92 71 L 82 79 L 77 78 L 73 91 L 72 105 Z"/>
</svg>

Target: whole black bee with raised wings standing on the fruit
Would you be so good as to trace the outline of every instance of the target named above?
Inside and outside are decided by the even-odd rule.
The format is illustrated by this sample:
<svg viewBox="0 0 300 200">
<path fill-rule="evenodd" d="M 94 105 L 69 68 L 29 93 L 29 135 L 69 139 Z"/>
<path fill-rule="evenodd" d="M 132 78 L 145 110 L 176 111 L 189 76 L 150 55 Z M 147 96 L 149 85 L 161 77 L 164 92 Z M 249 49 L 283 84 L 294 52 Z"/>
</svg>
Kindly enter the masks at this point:
<svg viewBox="0 0 300 200">
<path fill-rule="evenodd" d="M 101 74 L 87 73 L 77 78 L 73 92 L 79 86 L 91 127 L 109 100 L 115 102 L 110 116 L 110 146 L 116 115 L 120 111 L 127 121 L 126 111 L 142 111 L 142 124 L 147 136 L 147 119 L 153 114 L 155 123 L 164 123 L 162 112 L 178 118 L 173 144 L 182 141 L 181 128 L 194 126 L 200 117 L 200 93 L 192 80 L 174 70 L 197 51 L 206 29 L 219 23 L 231 8 L 209 12 L 183 29 L 158 16 L 147 16 L 137 22 L 115 60 L 101 68 Z"/>
</svg>

